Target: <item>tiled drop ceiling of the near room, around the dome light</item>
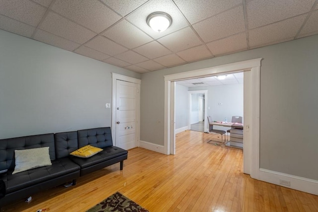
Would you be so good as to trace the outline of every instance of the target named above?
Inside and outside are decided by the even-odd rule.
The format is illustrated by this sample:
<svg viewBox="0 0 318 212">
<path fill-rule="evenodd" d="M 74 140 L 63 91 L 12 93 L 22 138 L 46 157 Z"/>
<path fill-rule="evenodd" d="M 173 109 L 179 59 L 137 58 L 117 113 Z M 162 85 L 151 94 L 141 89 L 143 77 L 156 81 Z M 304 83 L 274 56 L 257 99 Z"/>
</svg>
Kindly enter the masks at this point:
<svg viewBox="0 0 318 212">
<path fill-rule="evenodd" d="M 318 0 L 0 0 L 0 29 L 143 73 L 318 34 Z"/>
</svg>

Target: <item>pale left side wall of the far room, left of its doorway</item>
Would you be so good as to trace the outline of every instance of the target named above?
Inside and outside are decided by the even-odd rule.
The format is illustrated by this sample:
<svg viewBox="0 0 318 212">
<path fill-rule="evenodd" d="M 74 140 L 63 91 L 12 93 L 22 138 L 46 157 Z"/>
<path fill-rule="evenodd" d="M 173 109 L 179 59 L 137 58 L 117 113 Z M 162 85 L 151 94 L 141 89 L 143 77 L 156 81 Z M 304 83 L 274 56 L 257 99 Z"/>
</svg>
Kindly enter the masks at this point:
<svg viewBox="0 0 318 212">
<path fill-rule="evenodd" d="M 188 126 L 188 87 L 175 85 L 175 129 Z"/>
</svg>

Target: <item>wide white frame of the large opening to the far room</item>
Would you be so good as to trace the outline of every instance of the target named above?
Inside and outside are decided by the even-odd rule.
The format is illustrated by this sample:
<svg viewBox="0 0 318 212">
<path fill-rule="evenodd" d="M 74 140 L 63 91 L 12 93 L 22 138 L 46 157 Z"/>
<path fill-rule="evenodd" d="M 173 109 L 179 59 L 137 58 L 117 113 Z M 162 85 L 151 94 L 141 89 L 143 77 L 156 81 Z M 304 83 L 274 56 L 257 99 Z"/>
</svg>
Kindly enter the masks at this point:
<svg viewBox="0 0 318 212">
<path fill-rule="evenodd" d="M 260 64 L 262 58 L 232 63 L 217 67 L 211 67 L 195 71 L 186 71 L 164 76 L 164 153 L 173 154 L 174 137 L 174 98 L 171 99 L 176 80 L 213 76 L 224 73 L 248 71 L 244 73 L 244 87 L 250 87 L 249 92 L 244 93 L 244 113 L 248 113 L 249 119 L 244 118 L 244 142 L 243 142 L 243 171 L 252 178 L 258 179 L 259 175 L 259 107 L 260 107 Z M 244 89 L 244 92 L 248 89 Z M 245 95 L 246 94 L 246 95 Z M 245 110 L 245 104 L 249 104 Z M 173 107 L 171 107 L 173 106 Z M 171 112 L 172 111 L 172 112 Z M 245 139 L 246 138 L 246 139 Z M 245 141 L 246 140 L 246 141 Z M 171 149 L 172 148 L 172 149 Z M 171 151 L 171 150 L 172 151 Z"/>
</svg>

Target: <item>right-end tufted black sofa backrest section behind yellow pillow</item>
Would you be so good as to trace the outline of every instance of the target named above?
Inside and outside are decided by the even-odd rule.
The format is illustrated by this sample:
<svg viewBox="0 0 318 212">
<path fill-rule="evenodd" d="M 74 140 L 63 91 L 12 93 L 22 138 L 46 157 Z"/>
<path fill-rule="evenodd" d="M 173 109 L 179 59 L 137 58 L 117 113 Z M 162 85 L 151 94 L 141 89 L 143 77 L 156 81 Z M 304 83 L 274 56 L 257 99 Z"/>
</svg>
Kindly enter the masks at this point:
<svg viewBox="0 0 318 212">
<path fill-rule="evenodd" d="M 79 148 L 88 144 L 99 148 L 113 145 L 110 127 L 79 130 L 78 140 Z"/>
</svg>

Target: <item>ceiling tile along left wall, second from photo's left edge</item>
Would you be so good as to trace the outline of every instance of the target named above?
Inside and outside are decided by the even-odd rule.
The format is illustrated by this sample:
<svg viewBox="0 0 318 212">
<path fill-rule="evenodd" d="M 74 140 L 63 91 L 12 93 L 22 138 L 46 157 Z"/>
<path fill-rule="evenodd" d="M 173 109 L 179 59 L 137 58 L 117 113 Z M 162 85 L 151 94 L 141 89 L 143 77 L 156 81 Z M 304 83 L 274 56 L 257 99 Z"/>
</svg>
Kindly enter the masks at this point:
<svg viewBox="0 0 318 212">
<path fill-rule="evenodd" d="M 65 38 L 59 37 L 57 35 L 51 34 L 49 32 L 38 29 L 33 37 L 35 40 L 41 41 L 52 46 L 56 46 L 62 49 L 73 51 L 80 46 L 80 44 L 73 41 L 67 40 Z"/>
</svg>

